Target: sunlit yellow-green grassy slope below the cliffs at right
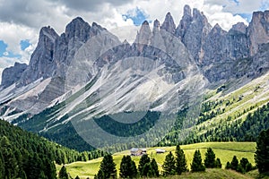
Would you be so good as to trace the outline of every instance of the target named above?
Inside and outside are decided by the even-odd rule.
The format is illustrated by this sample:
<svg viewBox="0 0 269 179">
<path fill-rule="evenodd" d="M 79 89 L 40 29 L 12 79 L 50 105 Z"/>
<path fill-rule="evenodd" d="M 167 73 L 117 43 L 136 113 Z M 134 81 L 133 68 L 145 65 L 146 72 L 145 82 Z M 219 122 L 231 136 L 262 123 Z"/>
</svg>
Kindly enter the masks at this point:
<svg viewBox="0 0 269 179">
<path fill-rule="evenodd" d="M 219 93 L 216 93 L 216 90 L 210 91 L 210 98 L 208 98 L 207 101 L 222 100 L 224 102 L 221 105 L 218 105 L 214 109 L 210 110 L 208 114 L 210 114 L 212 111 L 215 112 L 217 108 L 224 108 L 225 112 L 221 115 L 213 117 L 213 119 L 211 120 L 196 125 L 195 131 L 201 131 L 199 133 L 204 133 L 208 129 L 213 129 L 219 124 L 229 124 L 230 122 L 226 121 L 228 115 L 232 117 L 232 121 L 236 121 L 238 119 L 242 119 L 242 121 L 244 121 L 249 112 L 254 112 L 256 111 L 257 107 L 262 107 L 269 102 L 268 81 L 269 72 L 259 78 L 256 78 L 253 81 L 248 82 L 246 85 L 242 86 L 237 90 L 232 90 L 234 86 L 237 85 L 237 82 L 233 81 L 231 83 L 225 84 L 226 90 L 223 90 Z M 230 101 L 230 105 L 228 106 L 225 105 L 227 101 Z M 250 107 L 253 107 L 253 109 L 247 111 L 247 109 L 249 109 Z M 244 112 L 244 110 L 246 110 L 246 112 Z"/>
</svg>

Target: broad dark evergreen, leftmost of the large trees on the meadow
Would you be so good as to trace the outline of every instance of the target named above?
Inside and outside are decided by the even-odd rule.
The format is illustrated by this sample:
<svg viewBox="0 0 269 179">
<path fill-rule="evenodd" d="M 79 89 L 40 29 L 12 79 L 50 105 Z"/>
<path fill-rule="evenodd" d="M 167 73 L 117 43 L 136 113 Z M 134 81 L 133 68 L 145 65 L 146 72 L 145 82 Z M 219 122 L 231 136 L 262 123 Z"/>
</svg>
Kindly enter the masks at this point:
<svg viewBox="0 0 269 179">
<path fill-rule="evenodd" d="M 111 154 L 103 158 L 100 163 L 100 170 L 103 171 L 105 178 L 117 178 L 116 164 Z"/>
</svg>

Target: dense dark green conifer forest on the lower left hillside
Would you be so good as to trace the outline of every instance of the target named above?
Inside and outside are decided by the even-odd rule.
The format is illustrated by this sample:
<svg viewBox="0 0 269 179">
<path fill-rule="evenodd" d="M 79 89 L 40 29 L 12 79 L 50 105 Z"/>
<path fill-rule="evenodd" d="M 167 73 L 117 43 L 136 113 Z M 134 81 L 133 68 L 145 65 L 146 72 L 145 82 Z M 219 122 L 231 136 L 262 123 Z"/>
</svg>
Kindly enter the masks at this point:
<svg viewBox="0 0 269 179">
<path fill-rule="evenodd" d="M 100 158 L 101 151 L 78 152 L 0 120 L 0 178 L 56 178 L 56 164 Z"/>
</svg>

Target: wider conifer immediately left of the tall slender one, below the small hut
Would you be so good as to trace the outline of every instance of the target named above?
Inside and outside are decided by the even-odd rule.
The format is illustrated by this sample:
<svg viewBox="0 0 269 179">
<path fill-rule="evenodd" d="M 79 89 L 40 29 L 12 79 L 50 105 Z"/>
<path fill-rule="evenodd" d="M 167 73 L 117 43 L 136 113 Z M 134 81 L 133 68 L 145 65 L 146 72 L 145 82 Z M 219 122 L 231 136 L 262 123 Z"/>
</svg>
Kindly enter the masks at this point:
<svg viewBox="0 0 269 179">
<path fill-rule="evenodd" d="M 165 157 L 162 168 L 163 168 L 163 175 L 175 175 L 176 174 L 176 161 L 171 151 Z"/>
</svg>

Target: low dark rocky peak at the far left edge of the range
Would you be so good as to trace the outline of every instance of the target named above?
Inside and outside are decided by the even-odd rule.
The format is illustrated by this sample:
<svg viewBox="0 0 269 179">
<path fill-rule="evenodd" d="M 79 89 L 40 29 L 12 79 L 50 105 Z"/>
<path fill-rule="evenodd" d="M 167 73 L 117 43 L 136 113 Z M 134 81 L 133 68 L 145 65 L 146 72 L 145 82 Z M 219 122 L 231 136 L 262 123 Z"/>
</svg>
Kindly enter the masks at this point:
<svg viewBox="0 0 269 179">
<path fill-rule="evenodd" d="M 2 82 L 1 87 L 6 88 L 12 85 L 13 83 L 19 81 L 27 68 L 27 64 L 15 63 L 12 67 L 4 69 L 2 73 Z"/>
</svg>

